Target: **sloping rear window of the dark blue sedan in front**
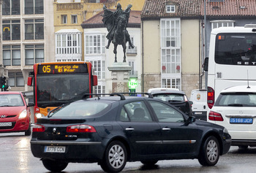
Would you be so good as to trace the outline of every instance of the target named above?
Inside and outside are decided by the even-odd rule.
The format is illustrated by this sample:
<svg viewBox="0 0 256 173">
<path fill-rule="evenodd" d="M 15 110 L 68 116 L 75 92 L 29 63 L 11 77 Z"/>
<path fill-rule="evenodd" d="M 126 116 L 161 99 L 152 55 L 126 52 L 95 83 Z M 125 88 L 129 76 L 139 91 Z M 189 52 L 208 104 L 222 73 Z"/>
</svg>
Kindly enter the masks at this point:
<svg viewBox="0 0 256 173">
<path fill-rule="evenodd" d="M 110 105 L 99 101 L 81 101 L 62 107 L 50 116 L 59 118 L 89 117 L 105 111 Z"/>
</svg>

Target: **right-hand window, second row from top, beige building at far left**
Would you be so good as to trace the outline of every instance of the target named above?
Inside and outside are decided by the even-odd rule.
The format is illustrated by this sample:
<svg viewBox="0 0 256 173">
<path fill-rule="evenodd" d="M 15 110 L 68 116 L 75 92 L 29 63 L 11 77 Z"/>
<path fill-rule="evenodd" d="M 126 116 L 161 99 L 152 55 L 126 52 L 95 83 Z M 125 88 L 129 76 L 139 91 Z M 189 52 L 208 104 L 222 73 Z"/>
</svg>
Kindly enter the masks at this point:
<svg viewBox="0 0 256 173">
<path fill-rule="evenodd" d="M 44 20 L 25 20 L 25 39 L 44 39 Z"/>
</svg>

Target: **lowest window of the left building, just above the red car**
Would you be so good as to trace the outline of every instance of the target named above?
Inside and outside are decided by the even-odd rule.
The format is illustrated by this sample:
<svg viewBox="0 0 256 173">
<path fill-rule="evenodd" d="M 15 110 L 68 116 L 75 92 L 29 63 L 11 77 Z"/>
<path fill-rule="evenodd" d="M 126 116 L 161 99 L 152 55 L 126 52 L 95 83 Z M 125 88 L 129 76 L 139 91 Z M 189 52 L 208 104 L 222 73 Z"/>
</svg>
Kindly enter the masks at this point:
<svg viewBox="0 0 256 173">
<path fill-rule="evenodd" d="M 25 85 L 23 74 L 21 72 L 8 73 L 7 85 L 11 87 L 23 87 Z"/>
</svg>

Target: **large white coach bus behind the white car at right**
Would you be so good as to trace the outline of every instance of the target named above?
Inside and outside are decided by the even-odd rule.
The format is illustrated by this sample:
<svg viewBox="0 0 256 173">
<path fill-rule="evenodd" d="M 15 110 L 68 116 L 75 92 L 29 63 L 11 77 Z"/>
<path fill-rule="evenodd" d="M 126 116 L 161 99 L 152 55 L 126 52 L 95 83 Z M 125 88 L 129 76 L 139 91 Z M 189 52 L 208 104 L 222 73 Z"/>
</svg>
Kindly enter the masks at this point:
<svg viewBox="0 0 256 173">
<path fill-rule="evenodd" d="M 256 85 L 256 24 L 214 28 L 204 68 L 208 71 L 209 109 L 223 89 Z"/>
</svg>

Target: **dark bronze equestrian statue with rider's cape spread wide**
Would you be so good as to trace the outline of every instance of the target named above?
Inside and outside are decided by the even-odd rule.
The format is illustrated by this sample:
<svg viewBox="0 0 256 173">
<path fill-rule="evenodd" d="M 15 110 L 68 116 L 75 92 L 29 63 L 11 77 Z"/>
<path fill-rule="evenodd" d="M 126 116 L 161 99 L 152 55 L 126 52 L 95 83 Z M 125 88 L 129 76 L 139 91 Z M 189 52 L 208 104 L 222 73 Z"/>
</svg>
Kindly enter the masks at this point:
<svg viewBox="0 0 256 173">
<path fill-rule="evenodd" d="M 132 5 L 129 4 L 127 9 L 123 11 L 121 9 L 121 4 L 118 3 L 116 11 L 112 12 L 110 9 L 107 9 L 105 5 L 103 6 L 104 14 L 103 14 L 103 23 L 108 29 L 108 35 L 106 36 L 108 39 L 108 45 L 106 48 L 108 49 L 110 43 L 112 42 L 114 45 L 113 53 L 115 53 L 115 62 L 116 60 L 116 48 L 118 45 L 122 45 L 124 52 L 124 61 L 126 62 L 126 43 L 129 42 L 129 46 L 134 48 L 132 45 L 131 39 L 129 37 L 129 33 L 127 31 L 128 20 L 129 20 L 129 12 L 131 11 Z"/>
</svg>

